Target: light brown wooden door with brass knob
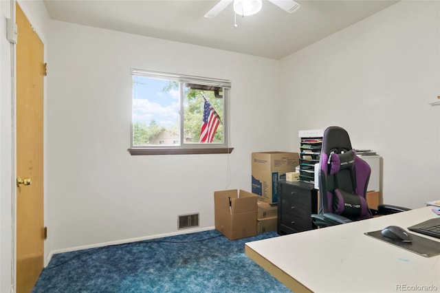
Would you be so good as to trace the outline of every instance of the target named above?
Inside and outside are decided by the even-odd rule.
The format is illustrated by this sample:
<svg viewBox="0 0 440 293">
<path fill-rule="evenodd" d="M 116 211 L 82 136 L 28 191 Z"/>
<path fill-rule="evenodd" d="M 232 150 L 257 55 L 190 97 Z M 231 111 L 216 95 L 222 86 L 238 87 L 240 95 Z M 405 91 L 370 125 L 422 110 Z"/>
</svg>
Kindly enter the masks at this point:
<svg viewBox="0 0 440 293">
<path fill-rule="evenodd" d="M 17 292 L 43 270 L 43 43 L 17 4 Z M 21 180 L 20 180 L 21 179 Z"/>
</svg>

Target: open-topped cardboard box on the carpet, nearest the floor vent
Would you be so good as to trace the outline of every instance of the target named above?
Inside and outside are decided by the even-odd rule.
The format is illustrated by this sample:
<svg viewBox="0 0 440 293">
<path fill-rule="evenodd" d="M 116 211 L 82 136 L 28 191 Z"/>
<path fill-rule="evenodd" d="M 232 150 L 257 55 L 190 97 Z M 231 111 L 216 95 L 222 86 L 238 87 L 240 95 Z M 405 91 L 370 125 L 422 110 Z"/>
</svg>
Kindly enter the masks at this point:
<svg viewBox="0 0 440 293">
<path fill-rule="evenodd" d="M 242 190 L 214 192 L 215 228 L 230 240 L 256 235 L 258 195 Z"/>
</svg>

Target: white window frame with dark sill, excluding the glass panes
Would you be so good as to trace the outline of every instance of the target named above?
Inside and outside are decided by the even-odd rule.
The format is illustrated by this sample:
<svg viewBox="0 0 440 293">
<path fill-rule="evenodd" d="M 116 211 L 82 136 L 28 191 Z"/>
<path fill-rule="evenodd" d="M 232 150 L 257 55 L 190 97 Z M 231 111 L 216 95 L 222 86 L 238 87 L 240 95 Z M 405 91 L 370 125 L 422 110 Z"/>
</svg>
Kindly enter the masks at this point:
<svg viewBox="0 0 440 293">
<path fill-rule="evenodd" d="M 131 155 L 184 155 L 184 154 L 208 154 L 208 153 L 231 153 L 234 148 L 229 146 L 229 99 L 230 80 L 219 78 L 205 78 L 201 76 L 189 76 L 185 74 L 172 74 L 166 72 L 154 72 L 144 69 L 131 68 L 131 76 L 144 76 L 162 80 L 170 80 L 179 83 L 179 90 L 182 93 L 184 83 L 221 87 L 223 89 L 223 143 L 190 143 L 184 142 L 184 98 L 179 96 L 179 140 L 180 145 L 166 146 L 133 146 L 133 83 L 131 91 L 131 122 L 130 122 L 130 148 Z"/>
</svg>

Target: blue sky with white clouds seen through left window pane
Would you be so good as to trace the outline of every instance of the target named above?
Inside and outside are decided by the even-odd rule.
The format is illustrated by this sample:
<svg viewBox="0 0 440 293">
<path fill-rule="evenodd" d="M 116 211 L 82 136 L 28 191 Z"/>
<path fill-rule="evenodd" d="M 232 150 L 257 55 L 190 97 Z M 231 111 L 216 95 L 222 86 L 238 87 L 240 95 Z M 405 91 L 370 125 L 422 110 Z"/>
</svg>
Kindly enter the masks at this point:
<svg viewBox="0 0 440 293">
<path fill-rule="evenodd" d="M 133 76 L 133 123 L 155 120 L 164 127 L 179 122 L 179 89 L 164 92 L 168 80 Z"/>
</svg>

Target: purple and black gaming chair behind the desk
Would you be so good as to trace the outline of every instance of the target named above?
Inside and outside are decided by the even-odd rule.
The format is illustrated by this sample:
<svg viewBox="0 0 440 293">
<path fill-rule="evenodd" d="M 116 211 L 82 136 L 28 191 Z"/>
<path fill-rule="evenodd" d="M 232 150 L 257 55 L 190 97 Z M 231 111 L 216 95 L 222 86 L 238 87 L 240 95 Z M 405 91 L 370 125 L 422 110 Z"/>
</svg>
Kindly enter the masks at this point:
<svg viewBox="0 0 440 293">
<path fill-rule="evenodd" d="M 333 226 L 408 210 L 389 205 L 371 210 L 366 204 L 370 174 L 369 164 L 352 149 L 349 133 L 341 127 L 325 129 L 318 175 L 320 209 L 319 215 L 311 216 L 314 224 Z"/>
</svg>

